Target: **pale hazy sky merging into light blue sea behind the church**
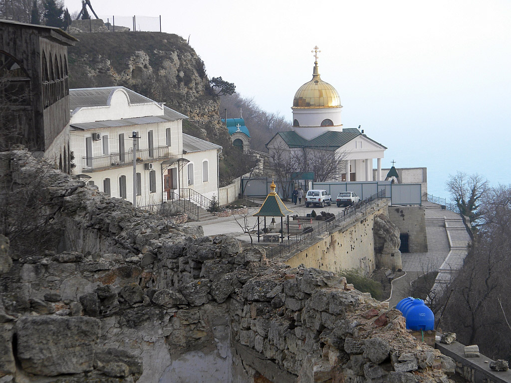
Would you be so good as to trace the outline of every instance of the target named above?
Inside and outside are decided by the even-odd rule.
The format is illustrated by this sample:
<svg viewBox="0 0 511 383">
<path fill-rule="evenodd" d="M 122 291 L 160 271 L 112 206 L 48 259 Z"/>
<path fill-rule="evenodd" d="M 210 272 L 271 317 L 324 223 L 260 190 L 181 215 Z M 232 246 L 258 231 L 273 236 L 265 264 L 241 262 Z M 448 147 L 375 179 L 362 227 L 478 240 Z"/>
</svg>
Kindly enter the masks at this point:
<svg viewBox="0 0 511 383">
<path fill-rule="evenodd" d="M 70 12 L 80 4 L 65 0 Z M 234 82 L 244 97 L 289 120 L 318 45 L 321 78 L 340 94 L 344 127 L 361 125 L 388 147 L 384 167 L 392 159 L 398 167 L 427 166 L 429 192 L 442 197 L 458 170 L 511 183 L 509 1 L 91 4 L 119 20 L 161 14 L 163 32 L 190 35 L 210 77 Z"/>
</svg>

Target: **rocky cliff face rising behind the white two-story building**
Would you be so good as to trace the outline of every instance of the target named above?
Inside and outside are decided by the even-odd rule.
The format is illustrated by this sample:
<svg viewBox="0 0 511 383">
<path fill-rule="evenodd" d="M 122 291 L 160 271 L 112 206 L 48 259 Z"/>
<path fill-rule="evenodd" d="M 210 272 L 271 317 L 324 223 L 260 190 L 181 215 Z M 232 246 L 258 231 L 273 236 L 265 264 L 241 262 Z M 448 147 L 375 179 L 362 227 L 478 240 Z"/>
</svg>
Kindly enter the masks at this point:
<svg viewBox="0 0 511 383">
<path fill-rule="evenodd" d="M 189 116 L 186 133 L 228 142 L 204 62 L 187 41 L 157 32 L 81 33 L 69 47 L 69 87 L 126 86 Z"/>
</svg>

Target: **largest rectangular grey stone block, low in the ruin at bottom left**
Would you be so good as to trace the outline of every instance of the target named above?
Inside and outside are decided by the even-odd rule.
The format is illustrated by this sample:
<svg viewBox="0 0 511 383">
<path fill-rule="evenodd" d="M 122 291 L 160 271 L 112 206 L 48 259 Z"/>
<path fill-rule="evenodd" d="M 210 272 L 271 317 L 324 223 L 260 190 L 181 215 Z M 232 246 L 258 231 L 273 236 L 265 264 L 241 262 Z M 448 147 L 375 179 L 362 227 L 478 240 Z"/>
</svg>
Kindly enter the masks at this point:
<svg viewBox="0 0 511 383">
<path fill-rule="evenodd" d="M 55 376 L 92 370 L 100 321 L 87 317 L 22 317 L 17 357 L 25 371 Z"/>
</svg>

